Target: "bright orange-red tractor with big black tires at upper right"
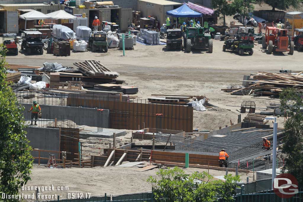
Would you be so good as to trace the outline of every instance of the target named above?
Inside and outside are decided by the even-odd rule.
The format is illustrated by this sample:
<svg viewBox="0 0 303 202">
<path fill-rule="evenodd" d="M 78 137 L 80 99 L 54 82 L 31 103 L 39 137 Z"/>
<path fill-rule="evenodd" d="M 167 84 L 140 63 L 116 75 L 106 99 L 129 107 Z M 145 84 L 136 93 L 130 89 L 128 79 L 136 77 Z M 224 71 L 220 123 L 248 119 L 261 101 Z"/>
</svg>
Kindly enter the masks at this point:
<svg viewBox="0 0 303 202">
<path fill-rule="evenodd" d="M 271 54 L 273 51 L 294 54 L 294 42 L 289 42 L 287 29 L 266 27 L 265 35 L 262 38 L 262 48 L 268 48 L 267 54 Z"/>
</svg>

